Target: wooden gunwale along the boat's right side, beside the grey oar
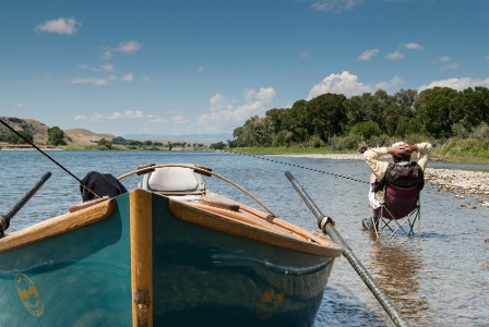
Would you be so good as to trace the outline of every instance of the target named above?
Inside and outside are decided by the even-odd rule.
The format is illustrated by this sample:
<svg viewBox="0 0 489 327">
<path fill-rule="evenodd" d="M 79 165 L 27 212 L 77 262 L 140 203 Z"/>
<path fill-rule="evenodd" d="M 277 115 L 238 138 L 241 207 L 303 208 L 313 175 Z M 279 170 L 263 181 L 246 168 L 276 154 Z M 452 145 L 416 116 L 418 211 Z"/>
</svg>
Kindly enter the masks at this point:
<svg viewBox="0 0 489 327">
<path fill-rule="evenodd" d="M 287 230 L 282 230 L 282 232 L 278 233 L 275 231 L 277 226 L 272 227 L 272 225 L 266 225 L 266 221 L 258 223 L 258 220 L 253 221 L 257 223 L 248 222 L 247 220 L 250 218 L 242 213 L 218 208 L 214 208 L 210 211 L 203 205 L 180 202 L 174 198 L 169 198 L 169 207 L 171 213 L 181 220 L 236 237 L 319 256 L 336 257 L 342 254 L 342 247 L 327 240 L 315 238 L 310 234 L 310 238 L 308 239 L 314 238 L 318 239 L 318 241 L 308 241 L 293 235 L 293 233 Z M 303 231 L 303 233 L 307 232 Z"/>
</svg>

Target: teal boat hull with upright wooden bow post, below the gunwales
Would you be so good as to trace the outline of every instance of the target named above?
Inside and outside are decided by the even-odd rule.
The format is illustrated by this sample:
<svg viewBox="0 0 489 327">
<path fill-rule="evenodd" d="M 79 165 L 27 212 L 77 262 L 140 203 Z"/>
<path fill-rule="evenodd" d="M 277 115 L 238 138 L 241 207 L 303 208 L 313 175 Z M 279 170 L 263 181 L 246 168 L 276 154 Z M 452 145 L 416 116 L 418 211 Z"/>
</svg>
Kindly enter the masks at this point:
<svg viewBox="0 0 489 327">
<path fill-rule="evenodd" d="M 212 229 L 142 190 L 109 202 L 104 217 L 64 232 L 0 240 L 0 326 L 313 325 L 337 249 L 269 244 L 247 225 L 246 237 Z"/>
</svg>

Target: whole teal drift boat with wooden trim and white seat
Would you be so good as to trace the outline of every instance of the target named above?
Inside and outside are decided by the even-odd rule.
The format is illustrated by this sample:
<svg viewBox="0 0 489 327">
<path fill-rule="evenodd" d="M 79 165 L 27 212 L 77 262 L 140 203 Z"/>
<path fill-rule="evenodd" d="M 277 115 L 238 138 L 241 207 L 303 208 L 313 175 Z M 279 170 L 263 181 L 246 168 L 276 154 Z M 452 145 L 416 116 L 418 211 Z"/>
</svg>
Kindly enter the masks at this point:
<svg viewBox="0 0 489 327">
<path fill-rule="evenodd" d="M 118 180 L 134 173 L 139 189 L 0 239 L 0 326 L 313 325 L 341 246 L 210 169 L 150 165 Z"/>
</svg>

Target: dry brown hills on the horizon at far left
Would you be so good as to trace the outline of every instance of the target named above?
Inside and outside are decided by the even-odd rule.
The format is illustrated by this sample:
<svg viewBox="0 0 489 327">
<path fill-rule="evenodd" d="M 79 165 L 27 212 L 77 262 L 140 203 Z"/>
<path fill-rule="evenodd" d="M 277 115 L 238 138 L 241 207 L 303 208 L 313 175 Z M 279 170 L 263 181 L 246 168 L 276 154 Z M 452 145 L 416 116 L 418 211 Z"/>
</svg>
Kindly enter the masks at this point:
<svg viewBox="0 0 489 327">
<path fill-rule="evenodd" d="M 2 117 L 1 119 L 15 131 L 31 132 L 34 137 L 34 143 L 46 144 L 48 141 L 48 129 L 50 128 L 37 120 L 15 117 Z M 61 126 L 60 129 L 63 130 Z M 84 129 L 63 130 L 63 132 L 67 143 L 73 145 L 88 145 L 91 141 L 98 141 L 100 138 L 112 140 L 115 137 L 111 134 L 97 134 Z M 12 132 L 5 126 L 0 125 L 0 133 Z"/>
</svg>

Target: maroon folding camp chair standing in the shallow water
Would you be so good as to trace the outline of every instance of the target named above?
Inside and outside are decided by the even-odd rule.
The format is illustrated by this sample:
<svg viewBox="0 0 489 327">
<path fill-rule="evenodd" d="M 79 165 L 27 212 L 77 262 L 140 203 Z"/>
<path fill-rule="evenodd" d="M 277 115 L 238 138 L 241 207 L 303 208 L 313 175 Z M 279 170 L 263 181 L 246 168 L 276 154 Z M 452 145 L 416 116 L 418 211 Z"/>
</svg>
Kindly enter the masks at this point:
<svg viewBox="0 0 489 327">
<path fill-rule="evenodd" d="M 392 238 L 402 230 L 406 235 L 414 237 L 415 223 L 418 222 L 418 234 L 420 229 L 420 201 L 419 186 L 402 189 L 392 184 L 384 187 L 384 203 L 380 207 L 378 223 L 372 219 L 372 226 L 377 237 L 383 230 L 389 230 Z"/>
</svg>

